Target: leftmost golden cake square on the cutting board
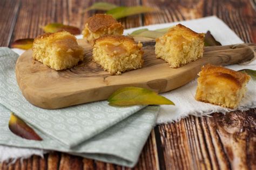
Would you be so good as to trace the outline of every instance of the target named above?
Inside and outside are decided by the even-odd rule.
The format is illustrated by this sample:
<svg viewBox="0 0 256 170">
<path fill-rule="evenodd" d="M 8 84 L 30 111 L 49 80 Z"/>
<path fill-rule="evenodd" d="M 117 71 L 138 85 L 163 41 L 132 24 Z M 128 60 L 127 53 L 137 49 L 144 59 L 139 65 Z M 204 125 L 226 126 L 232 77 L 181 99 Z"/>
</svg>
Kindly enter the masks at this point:
<svg viewBox="0 0 256 170">
<path fill-rule="evenodd" d="M 84 49 L 75 36 L 66 31 L 45 33 L 33 41 L 33 59 L 55 70 L 76 66 L 84 59 Z"/>
</svg>

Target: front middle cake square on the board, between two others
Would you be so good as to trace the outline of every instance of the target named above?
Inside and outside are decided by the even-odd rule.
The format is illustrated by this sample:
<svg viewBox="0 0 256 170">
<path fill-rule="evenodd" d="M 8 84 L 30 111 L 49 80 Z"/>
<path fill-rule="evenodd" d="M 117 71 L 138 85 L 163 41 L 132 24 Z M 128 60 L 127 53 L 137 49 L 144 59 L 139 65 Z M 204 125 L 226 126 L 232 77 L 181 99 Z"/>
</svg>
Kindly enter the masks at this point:
<svg viewBox="0 0 256 170">
<path fill-rule="evenodd" d="M 92 60 L 111 75 L 119 75 L 127 70 L 143 65 L 142 43 L 120 35 L 105 35 L 95 40 Z"/>
</svg>

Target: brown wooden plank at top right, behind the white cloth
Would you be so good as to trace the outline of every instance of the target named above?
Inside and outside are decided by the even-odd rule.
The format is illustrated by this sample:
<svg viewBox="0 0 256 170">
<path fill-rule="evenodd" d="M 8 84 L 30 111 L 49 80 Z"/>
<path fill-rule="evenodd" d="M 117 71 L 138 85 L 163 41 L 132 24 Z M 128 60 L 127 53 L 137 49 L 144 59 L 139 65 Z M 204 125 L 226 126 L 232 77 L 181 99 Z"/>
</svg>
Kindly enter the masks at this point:
<svg viewBox="0 0 256 170">
<path fill-rule="evenodd" d="M 256 12 L 249 0 L 230 1 L 159 1 L 143 0 L 143 5 L 158 8 L 157 13 L 144 15 L 144 24 L 159 24 L 166 22 L 177 22 L 215 15 L 231 27 L 238 36 L 245 42 L 255 42 Z"/>
</svg>

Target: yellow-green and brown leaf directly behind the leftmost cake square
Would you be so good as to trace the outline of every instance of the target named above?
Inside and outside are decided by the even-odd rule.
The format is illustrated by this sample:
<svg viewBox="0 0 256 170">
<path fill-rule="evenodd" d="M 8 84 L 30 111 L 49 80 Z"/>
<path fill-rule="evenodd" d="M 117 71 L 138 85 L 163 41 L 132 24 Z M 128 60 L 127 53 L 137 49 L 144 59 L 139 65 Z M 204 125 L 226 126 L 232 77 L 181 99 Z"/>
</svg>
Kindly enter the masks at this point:
<svg viewBox="0 0 256 170">
<path fill-rule="evenodd" d="M 60 24 L 60 23 L 47 24 L 41 28 L 44 30 L 44 32 L 50 32 L 50 33 L 54 33 L 54 32 L 60 31 L 60 30 L 68 31 L 73 35 L 77 35 L 77 34 L 81 33 L 80 29 L 78 29 L 75 26 L 64 25 L 64 24 Z"/>
</svg>

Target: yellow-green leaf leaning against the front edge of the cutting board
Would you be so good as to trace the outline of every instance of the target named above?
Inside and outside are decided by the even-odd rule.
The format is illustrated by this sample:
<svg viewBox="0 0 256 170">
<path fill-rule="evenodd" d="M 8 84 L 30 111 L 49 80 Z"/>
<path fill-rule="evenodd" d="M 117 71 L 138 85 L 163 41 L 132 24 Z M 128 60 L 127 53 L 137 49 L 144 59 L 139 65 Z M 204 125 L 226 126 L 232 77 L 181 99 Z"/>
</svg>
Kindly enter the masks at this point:
<svg viewBox="0 0 256 170">
<path fill-rule="evenodd" d="M 124 87 L 115 91 L 107 100 L 109 105 L 129 106 L 129 105 L 149 105 L 149 104 L 172 104 L 169 99 L 158 95 L 154 91 L 138 88 Z"/>
</svg>

